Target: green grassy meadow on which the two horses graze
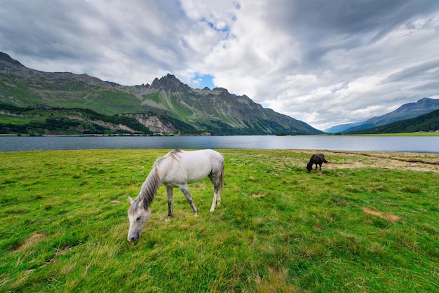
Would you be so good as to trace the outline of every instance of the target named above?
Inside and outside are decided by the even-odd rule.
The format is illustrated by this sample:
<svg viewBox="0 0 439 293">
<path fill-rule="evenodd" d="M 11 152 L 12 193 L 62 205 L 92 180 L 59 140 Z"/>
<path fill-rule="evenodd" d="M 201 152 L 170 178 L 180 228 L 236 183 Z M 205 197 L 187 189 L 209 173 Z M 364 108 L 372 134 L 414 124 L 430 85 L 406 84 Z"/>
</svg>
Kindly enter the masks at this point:
<svg viewBox="0 0 439 293">
<path fill-rule="evenodd" d="M 190 186 L 199 216 L 176 190 L 165 222 L 162 186 L 128 243 L 126 197 L 166 152 L 0 153 L 1 292 L 438 291 L 439 172 L 418 170 L 424 154 L 325 152 L 308 174 L 312 151 L 222 150 L 215 212 L 206 179 Z"/>
</svg>

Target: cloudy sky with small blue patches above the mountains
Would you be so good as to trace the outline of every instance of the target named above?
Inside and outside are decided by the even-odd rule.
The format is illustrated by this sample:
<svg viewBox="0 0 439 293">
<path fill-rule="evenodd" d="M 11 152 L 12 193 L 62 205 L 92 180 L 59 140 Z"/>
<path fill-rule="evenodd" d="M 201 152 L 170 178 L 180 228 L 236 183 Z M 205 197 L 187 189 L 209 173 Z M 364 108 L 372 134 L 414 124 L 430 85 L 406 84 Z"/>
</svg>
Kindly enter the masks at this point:
<svg viewBox="0 0 439 293">
<path fill-rule="evenodd" d="M 0 0 L 0 51 L 127 86 L 174 74 L 325 130 L 439 98 L 438 0 Z"/>
</svg>

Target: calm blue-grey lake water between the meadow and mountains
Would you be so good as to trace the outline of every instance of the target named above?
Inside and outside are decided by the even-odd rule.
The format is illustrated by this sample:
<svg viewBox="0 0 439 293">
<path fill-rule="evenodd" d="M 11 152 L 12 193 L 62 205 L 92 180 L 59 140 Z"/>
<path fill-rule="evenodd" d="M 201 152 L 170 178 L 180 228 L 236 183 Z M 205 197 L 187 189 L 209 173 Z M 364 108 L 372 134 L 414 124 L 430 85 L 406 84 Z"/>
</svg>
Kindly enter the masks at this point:
<svg viewBox="0 0 439 293">
<path fill-rule="evenodd" d="M 439 153 L 439 136 L 0 137 L 0 151 L 72 149 L 327 149 Z"/>
</svg>

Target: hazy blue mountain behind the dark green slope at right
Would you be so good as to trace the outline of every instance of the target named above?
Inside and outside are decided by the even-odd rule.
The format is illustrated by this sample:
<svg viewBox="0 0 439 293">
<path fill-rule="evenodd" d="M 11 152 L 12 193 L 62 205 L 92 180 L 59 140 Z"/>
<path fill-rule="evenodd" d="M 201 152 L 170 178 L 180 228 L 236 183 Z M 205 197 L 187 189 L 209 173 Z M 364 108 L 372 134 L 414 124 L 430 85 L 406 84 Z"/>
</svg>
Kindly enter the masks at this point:
<svg viewBox="0 0 439 293">
<path fill-rule="evenodd" d="M 392 111 L 388 114 L 384 114 L 382 116 L 375 116 L 370 119 L 367 119 L 367 121 L 360 123 L 360 125 L 352 125 L 349 128 L 344 128 L 343 125 L 336 125 L 330 128 L 329 130 L 327 130 L 327 132 L 348 133 L 348 132 L 353 132 L 355 130 L 376 128 L 377 126 L 387 125 L 395 121 L 414 118 L 419 115 L 426 114 L 431 111 L 435 111 L 436 109 L 439 109 L 439 99 L 431 99 L 428 97 L 424 97 L 423 99 L 417 102 L 403 104 L 403 106 L 399 107 L 395 111 Z M 333 131 L 334 129 L 339 129 L 339 130 Z"/>
</svg>

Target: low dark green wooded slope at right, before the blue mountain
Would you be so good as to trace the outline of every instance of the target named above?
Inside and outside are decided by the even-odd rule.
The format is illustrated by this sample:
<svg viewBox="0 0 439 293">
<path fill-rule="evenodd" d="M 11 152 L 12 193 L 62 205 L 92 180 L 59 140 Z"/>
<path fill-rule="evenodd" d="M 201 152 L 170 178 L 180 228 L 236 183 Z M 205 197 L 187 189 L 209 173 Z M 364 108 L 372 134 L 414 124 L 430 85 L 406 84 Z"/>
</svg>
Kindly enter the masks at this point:
<svg viewBox="0 0 439 293">
<path fill-rule="evenodd" d="M 404 133 L 439 131 L 439 109 L 411 119 L 396 121 L 369 129 L 353 130 L 346 134 Z"/>
</svg>

